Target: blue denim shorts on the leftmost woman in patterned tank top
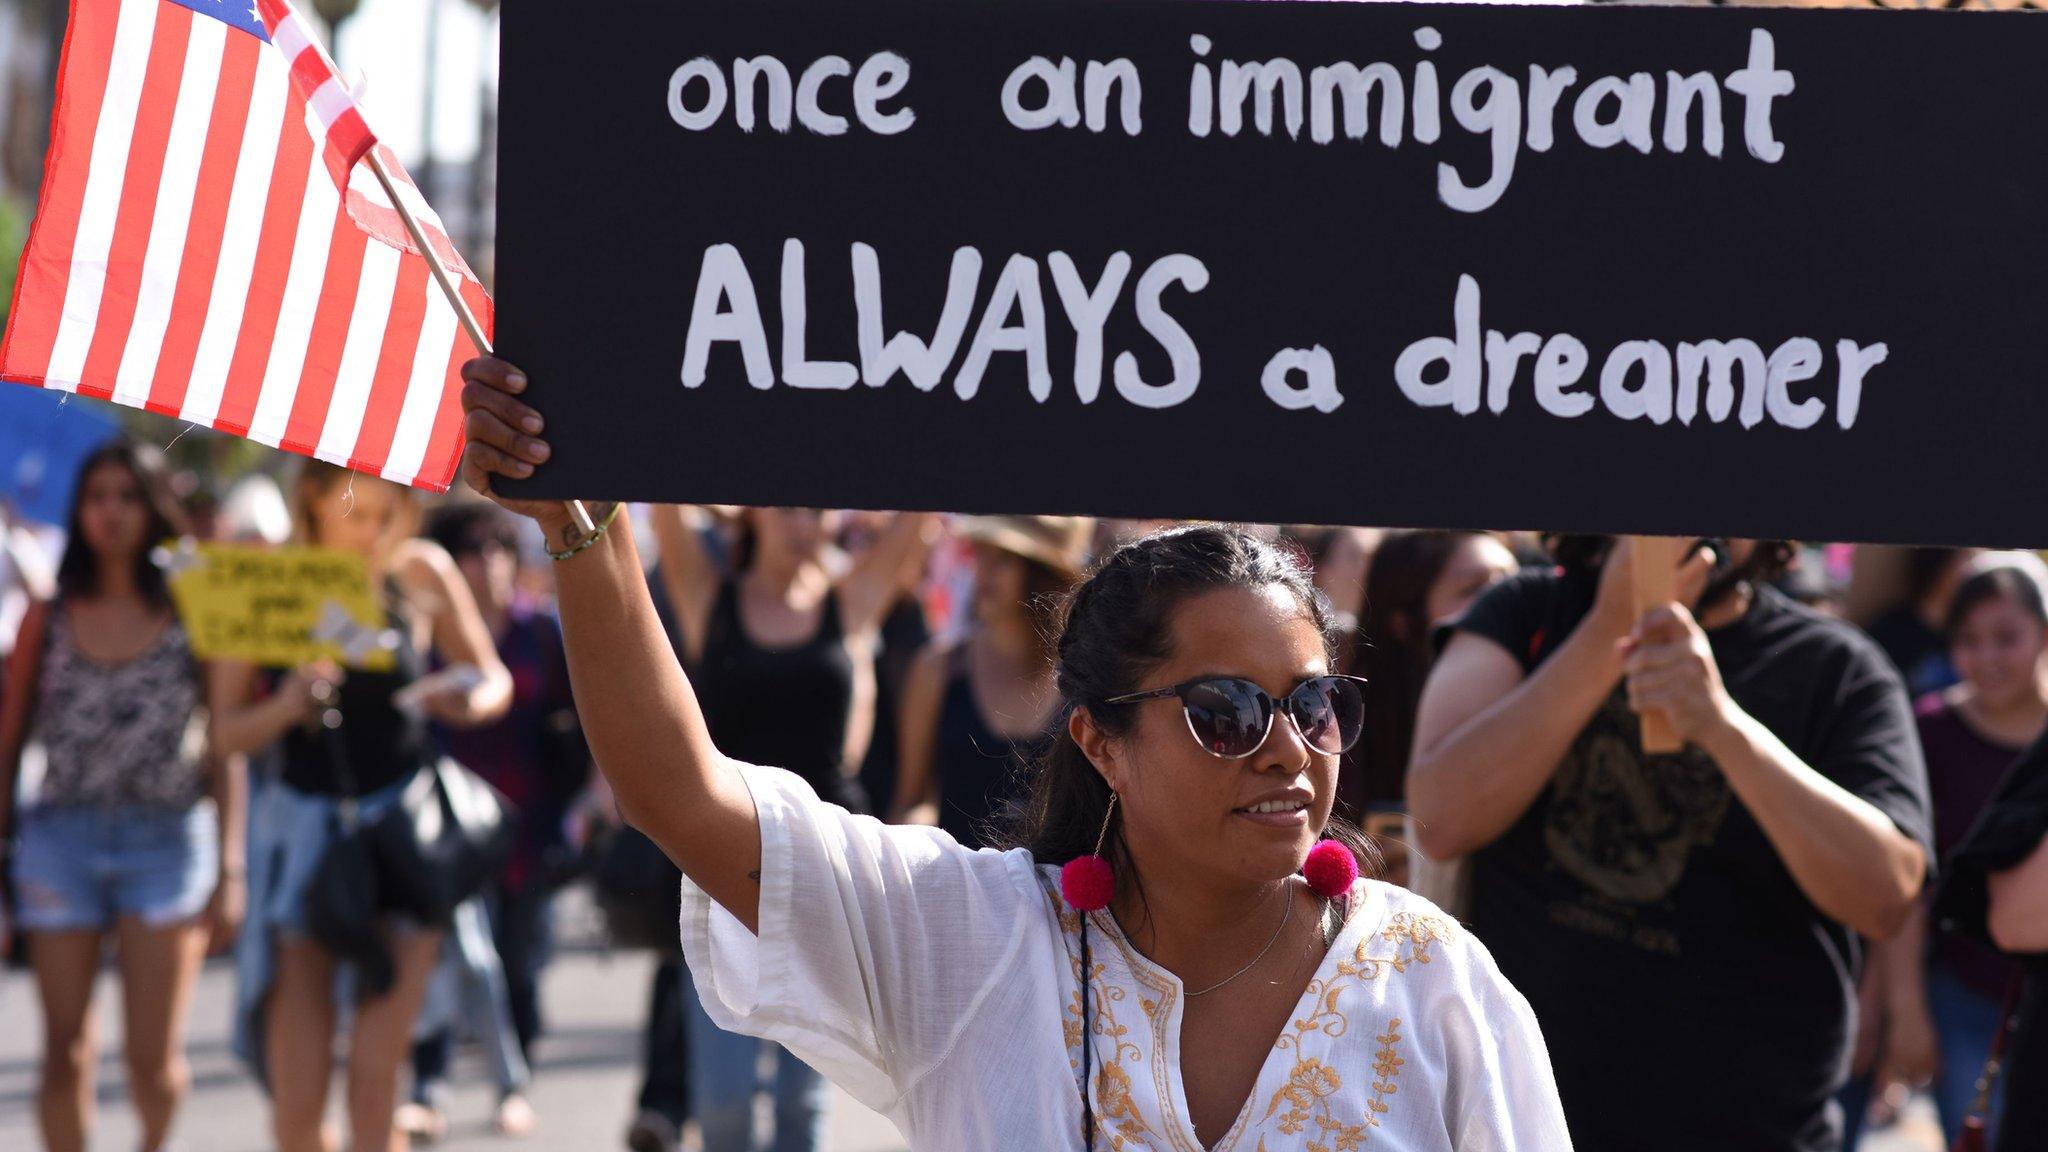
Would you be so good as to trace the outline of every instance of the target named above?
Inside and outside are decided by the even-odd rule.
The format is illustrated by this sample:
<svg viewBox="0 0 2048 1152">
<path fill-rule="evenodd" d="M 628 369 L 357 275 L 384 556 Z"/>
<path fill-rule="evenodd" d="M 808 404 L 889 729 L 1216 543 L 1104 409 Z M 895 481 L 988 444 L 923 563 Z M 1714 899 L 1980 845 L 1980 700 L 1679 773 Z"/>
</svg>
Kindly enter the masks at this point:
<svg viewBox="0 0 2048 1152">
<path fill-rule="evenodd" d="M 31 933 L 104 931 L 121 916 L 162 929 L 203 912 L 219 873 L 211 801 L 37 806 L 20 814 L 10 912 Z"/>
</svg>

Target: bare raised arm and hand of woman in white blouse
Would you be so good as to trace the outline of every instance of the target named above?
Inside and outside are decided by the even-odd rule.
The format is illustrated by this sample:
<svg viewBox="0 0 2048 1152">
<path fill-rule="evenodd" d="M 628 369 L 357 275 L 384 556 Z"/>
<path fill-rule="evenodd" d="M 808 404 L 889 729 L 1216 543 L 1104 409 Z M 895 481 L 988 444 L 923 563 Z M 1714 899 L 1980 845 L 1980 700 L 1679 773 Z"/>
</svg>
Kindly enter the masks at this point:
<svg viewBox="0 0 2048 1152">
<path fill-rule="evenodd" d="M 547 461 L 541 414 L 518 398 L 526 377 L 498 359 L 463 367 L 469 443 L 463 480 L 504 508 L 535 519 L 549 547 L 582 543 L 563 504 L 506 500 L 498 476 L 526 478 Z M 590 508 L 600 523 L 610 506 Z M 713 744 L 696 693 L 676 662 L 647 594 L 627 517 L 555 564 L 569 683 L 590 752 L 625 818 L 750 931 L 760 920 L 760 822 L 737 767 Z"/>
</svg>

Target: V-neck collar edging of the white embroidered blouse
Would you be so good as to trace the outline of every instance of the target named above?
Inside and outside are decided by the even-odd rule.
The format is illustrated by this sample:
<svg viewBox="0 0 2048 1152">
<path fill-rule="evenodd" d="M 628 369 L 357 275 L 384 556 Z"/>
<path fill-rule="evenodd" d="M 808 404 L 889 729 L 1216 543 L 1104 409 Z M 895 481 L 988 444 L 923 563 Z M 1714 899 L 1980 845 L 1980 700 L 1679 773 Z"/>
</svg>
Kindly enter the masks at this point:
<svg viewBox="0 0 2048 1152">
<path fill-rule="evenodd" d="M 1251 1109 L 1262 1097 L 1274 1093 L 1268 1084 L 1278 1074 L 1286 1078 L 1286 1070 L 1280 1068 L 1286 1054 L 1288 1029 L 1274 1035 L 1272 1047 L 1266 1050 L 1266 1060 L 1260 1062 L 1260 1074 L 1251 1080 L 1251 1091 L 1245 1095 L 1245 1103 L 1237 1107 L 1237 1119 L 1231 1123 L 1229 1132 L 1217 1140 L 1214 1146 L 1202 1146 L 1200 1136 L 1194 1132 L 1194 1113 L 1188 1109 L 1188 1084 L 1180 1070 L 1180 1033 L 1182 1015 L 1186 1009 L 1186 988 L 1180 976 L 1174 976 L 1165 968 L 1153 963 L 1145 953 L 1141 953 L 1128 937 L 1124 937 L 1122 927 L 1116 916 L 1108 910 L 1098 910 L 1087 914 L 1096 929 L 1116 945 L 1116 953 L 1122 957 L 1124 970 L 1130 978 L 1139 982 L 1153 1000 L 1141 1000 L 1145 1017 L 1151 1021 L 1153 1031 L 1153 1091 L 1157 1093 L 1161 1117 L 1165 1125 L 1165 1138 L 1171 1140 L 1174 1152 L 1231 1152 L 1237 1148 L 1237 1140 L 1251 1125 Z M 1358 949 L 1364 935 L 1378 931 L 1380 922 L 1386 918 L 1386 896 L 1372 883 L 1360 881 L 1352 888 L 1352 914 L 1337 931 L 1337 937 L 1323 949 L 1323 959 L 1315 965 L 1315 974 L 1303 988 L 1300 998 L 1294 1000 L 1294 1013 L 1288 1015 L 1290 1021 L 1309 1019 L 1315 1015 L 1317 1004 L 1323 998 L 1323 990 L 1331 984 L 1335 965 Z M 1085 978 L 1087 974 L 1083 974 Z M 1081 1043 L 1092 1043 L 1085 1031 Z M 1122 1043 L 1122 1041 L 1118 1041 Z M 1094 1091 L 1090 1084 L 1087 1091 Z"/>
</svg>

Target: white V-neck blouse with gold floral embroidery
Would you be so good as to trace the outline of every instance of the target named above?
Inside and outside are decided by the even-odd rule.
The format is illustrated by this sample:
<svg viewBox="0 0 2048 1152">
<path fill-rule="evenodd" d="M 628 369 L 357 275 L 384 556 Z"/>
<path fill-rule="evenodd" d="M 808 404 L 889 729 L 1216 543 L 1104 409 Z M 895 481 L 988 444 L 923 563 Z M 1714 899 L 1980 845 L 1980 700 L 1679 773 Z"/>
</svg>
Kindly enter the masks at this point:
<svg viewBox="0 0 2048 1152">
<path fill-rule="evenodd" d="M 743 767 L 760 937 L 682 883 L 711 1019 L 786 1045 L 915 1152 L 1079 1152 L 1079 927 L 1028 853 L 827 806 Z M 1096 1148 L 1567 1152 L 1542 1033 L 1434 904 L 1362 879 L 1237 1123 L 1202 1150 L 1182 1093 L 1182 986 L 1106 912 L 1090 927 Z"/>
</svg>

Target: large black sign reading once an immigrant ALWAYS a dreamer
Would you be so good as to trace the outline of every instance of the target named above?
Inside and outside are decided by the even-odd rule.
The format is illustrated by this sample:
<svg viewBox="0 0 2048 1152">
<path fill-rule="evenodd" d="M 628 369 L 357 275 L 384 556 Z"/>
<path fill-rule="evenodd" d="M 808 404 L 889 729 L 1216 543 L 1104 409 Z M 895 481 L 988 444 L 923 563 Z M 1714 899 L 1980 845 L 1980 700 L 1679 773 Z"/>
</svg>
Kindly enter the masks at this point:
<svg viewBox="0 0 2048 1152">
<path fill-rule="evenodd" d="M 2048 18 L 506 12 L 522 494 L 2048 543 Z"/>
</svg>

